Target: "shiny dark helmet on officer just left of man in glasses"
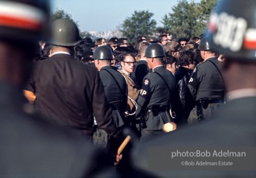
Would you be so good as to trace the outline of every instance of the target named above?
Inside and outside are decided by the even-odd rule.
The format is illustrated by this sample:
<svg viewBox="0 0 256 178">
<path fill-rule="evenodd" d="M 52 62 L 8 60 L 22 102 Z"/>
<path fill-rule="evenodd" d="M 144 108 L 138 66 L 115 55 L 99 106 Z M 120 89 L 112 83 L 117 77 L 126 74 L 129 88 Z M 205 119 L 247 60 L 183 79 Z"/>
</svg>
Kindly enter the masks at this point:
<svg viewBox="0 0 256 178">
<path fill-rule="evenodd" d="M 99 60 L 113 59 L 112 49 L 108 46 L 97 47 L 92 58 Z"/>
</svg>

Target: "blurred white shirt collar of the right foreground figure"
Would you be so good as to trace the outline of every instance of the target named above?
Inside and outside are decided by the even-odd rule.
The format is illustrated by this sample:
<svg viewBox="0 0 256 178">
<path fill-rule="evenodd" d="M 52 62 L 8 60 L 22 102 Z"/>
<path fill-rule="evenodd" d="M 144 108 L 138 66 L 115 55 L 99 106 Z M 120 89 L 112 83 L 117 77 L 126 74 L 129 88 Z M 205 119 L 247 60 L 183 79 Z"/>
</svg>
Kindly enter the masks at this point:
<svg viewBox="0 0 256 178">
<path fill-rule="evenodd" d="M 244 88 L 239 90 L 233 90 L 227 93 L 227 102 L 230 102 L 233 99 L 238 99 L 241 97 L 256 97 L 255 88 Z"/>
</svg>

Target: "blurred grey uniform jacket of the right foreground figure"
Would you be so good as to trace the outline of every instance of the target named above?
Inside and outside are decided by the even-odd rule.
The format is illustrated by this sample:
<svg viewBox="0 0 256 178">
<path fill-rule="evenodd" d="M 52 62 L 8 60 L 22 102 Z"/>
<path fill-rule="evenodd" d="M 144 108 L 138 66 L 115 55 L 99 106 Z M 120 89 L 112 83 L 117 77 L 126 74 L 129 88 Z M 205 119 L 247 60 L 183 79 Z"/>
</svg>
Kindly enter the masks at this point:
<svg viewBox="0 0 256 178">
<path fill-rule="evenodd" d="M 256 177 L 255 104 L 256 96 L 231 100 L 223 105 L 212 120 L 204 120 L 140 143 L 133 163 L 137 168 L 144 168 L 160 177 Z M 155 150 L 155 153 L 148 150 Z M 171 159 L 172 152 L 191 153 L 196 150 L 201 153 L 208 151 L 210 156 L 176 156 Z M 246 152 L 246 156 L 223 154 L 213 157 L 214 150 Z M 154 154 L 156 156 L 153 157 Z M 218 164 L 219 161 L 231 161 L 233 165 L 196 166 L 196 161 L 209 163 L 214 158 Z M 182 161 L 194 161 L 195 165 L 182 166 Z M 156 165 L 160 169 L 154 168 Z"/>
</svg>

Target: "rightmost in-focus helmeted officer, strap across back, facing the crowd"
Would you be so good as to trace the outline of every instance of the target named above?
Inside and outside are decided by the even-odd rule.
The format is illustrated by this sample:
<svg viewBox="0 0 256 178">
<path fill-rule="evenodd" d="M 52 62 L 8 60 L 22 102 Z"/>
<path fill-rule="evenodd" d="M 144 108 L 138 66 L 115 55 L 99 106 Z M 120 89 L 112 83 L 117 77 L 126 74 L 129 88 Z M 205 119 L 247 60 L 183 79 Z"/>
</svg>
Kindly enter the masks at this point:
<svg viewBox="0 0 256 178">
<path fill-rule="evenodd" d="M 196 101 L 198 120 L 203 120 L 223 104 L 225 86 L 216 50 L 207 36 L 200 40 L 199 49 L 204 61 L 194 69 L 188 87 Z"/>
</svg>

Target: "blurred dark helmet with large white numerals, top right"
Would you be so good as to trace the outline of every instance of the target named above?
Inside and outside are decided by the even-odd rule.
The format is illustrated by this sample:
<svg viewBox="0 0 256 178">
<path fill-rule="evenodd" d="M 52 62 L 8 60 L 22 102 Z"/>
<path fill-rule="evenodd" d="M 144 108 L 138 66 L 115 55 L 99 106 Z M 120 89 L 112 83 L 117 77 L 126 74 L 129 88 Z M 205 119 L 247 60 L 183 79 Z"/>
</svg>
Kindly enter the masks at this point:
<svg viewBox="0 0 256 178">
<path fill-rule="evenodd" d="M 255 11 L 255 0 L 219 1 L 208 25 L 216 49 L 231 58 L 256 60 Z"/>
</svg>

